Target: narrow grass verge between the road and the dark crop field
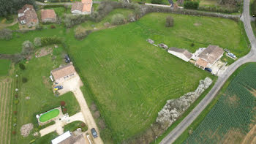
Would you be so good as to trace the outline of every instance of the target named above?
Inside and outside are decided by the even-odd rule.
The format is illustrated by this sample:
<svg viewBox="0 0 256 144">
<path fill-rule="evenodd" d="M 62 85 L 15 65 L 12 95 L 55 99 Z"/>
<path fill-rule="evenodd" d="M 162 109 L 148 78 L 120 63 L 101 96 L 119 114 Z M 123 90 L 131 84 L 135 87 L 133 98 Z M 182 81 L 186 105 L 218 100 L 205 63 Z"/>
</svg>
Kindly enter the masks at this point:
<svg viewBox="0 0 256 144">
<path fill-rule="evenodd" d="M 195 119 L 195 121 L 193 121 L 193 123 L 178 137 L 178 139 L 176 139 L 176 141 L 174 142 L 175 144 L 183 143 L 184 140 L 187 140 L 187 137 L 189 137 L 189 130 L 190 129 L 195 130 L 197 128 L 197 126 L 199 126 L 199 124 L 203 121 L 203 119 L 206 117 L 206 115 L 211 111 L 211 108 L 214 107 L 214 105 L 218 102 L 219 97 L 225 93 L 225 90 L 227 89 L 227 86 L 230 84 L 230 82 L 234 78 L 236 78 L 236 76 L 239 74 L 239 72 L 241 72 L 241 70 L 243 70 L 248 65 L 249 65 L 249 63 L 244 64 L 241 67 L 239 67 L 238 69 L 236 69 L 236 71 L 233 73 L 233 75 L 231 75 L 227 79 L 224 86 L 222 86 L 221 90 L 219 91 L 219 94 L 217 94 L 217 96 L 210 102 L 210 104 L 203 110 L 203 112 L 200 113 L 200 115 Z"/>
</svg>

